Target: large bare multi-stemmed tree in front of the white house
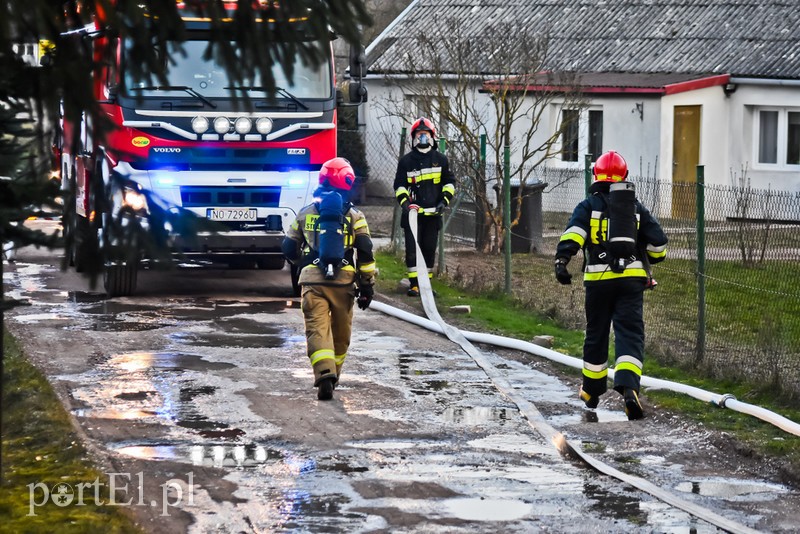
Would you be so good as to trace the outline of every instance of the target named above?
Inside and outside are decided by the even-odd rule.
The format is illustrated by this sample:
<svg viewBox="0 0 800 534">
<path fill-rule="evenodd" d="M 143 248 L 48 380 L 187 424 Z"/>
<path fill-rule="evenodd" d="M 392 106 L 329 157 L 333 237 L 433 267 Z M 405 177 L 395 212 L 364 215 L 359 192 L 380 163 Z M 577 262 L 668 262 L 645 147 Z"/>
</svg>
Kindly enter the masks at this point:
<svg viewBox="0 0 800 534">
<path fill-rule="evenodd" d="M 435 37 L 420 35 L 419 54 L 406 56 L 403 93 L 383 105 L 387 116 L 407 122 L 409 113 L 429 114 L 448 139 L 448 157 L 479 213 L 478 248 L 497 252 L 503 243 L 504 151 L 510 151 L 510 181 L 516 189 L 511 228 L 519 223 L 526 185 L 537 168 L 558 154 L 566 128 L 551 129 L 543 117 L 555 108 L 580 110 L 585 101 L 575 76 L 548 70 L 549 38 L 530 26 L 487 25 L 467 35 L 456 19 L 441 23 Z M 408 109 L 409 98 L 414 109 Z M 481 139 L 486 136 L 486 160 Z M 491 163 L 494 165 L 491 165 Z M 512 189 L 513 190 L 513 189 Z"/>
</svg>

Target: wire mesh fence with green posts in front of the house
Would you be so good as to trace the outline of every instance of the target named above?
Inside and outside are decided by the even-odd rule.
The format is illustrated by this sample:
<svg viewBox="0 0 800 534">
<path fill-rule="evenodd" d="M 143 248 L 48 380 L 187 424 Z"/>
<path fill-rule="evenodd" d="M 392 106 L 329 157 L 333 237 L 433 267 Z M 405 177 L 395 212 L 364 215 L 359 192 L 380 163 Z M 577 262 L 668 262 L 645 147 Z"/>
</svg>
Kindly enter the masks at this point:
<svg viewBox="0 0 800 534">
<path fill-rule="evenodd" d="M 402 250 L 392 191 L 400 136 L 394 140 L 394 146 L 390 139 L 368 141 L 375 146 L 367 146 L 367 154 L 383 156 L 370 160 L 361 209 L 377 242 Z M 515 271 L 524 264 L 538 273 L 532 276 L 542 277 L 535 290 L 515 279 L 514 296 L 574 327 L 583 326 L 582 288 L 569 286 L 565 297 L 552 280 L 552 257 L 573 208 L 585 197 L 585 172 L 537 171 L 536 178 L 547 184 L 537 193 L 541 212 L 523 217 L 541 218 L 540 240 L 534 253 L 512 255 Z M 667 260 L 654 267 L 659 288 L 645 299 L 647 350 L 668 364 L 800 394 L 800 194 L 745 183 L 704 185 L 702 176 L 698 179 L 700 186 L 629 178 L 670 240 Z M 503 264 L 497 255 L 486 257 L 475 250 L 480 218 L 473 199 L 464 194 L 466 181 L 460 185 L 446 215 L 440 272 L 455 274 L 456 282 L 475 288 L 480 285 L 475 276 L 464 276 L 459 265 L 463 254 L 486 260 L 493 272 L 485 278 L 502 279 Z M 514 236 L 530 238 L 517 228 L 512 228 Z M 554 302 L 564 298 L 567 305 L 554 312 Z"/>
</svg>

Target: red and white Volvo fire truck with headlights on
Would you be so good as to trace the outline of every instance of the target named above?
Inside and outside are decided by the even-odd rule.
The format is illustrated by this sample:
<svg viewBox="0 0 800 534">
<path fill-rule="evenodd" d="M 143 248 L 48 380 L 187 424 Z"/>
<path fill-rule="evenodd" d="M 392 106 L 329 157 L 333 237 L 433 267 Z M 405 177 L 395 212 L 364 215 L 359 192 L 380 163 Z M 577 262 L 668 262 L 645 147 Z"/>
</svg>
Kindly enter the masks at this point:
<svg viewBox="0 0 800 534">
<path fill-rule="evenodd" d="M 152 238 L 126 228 L 134 225 L 163 228 L 161 245 L 173 259 L 282 269 L 284 231 L 310 202 L 322 163 L 336 156 L 343 97 L 331 42 L 323 43 L 331 53 L 319 66 L 296 59 L 291 80 L 276 65 L 273 90 L 237 87 L 222 65 L 204 57 L 211 21 L 182 17 L 188 37 L 184 53 L 169 56 L 166 83 L 135 79 L 125 39 L 104 32 L 102 23 L 70 32 L 91 47 L 94 98 L 113 128 L 96 127 L 87 116 L 62 121 L 55 152 L 66 192 L 66 252 L 78 271 L 97 262 L 110 296 L 132 294 L 138 269 L 154 261 L 147 255 L 153 243 L 145 242 Z M 352 57 L 359 60 L 357 52 Z M 365 93 L 359 80 L 349 100 Z M 249 107 L 242 105 L 245 94 Z M 216 224 L 192 223 L 198 231 L 186 237 L 176 221 L 185 223 L 187 212 L 195 222 Z M 297 291 L 296 273 L 292 280 Z"/>
</svg>

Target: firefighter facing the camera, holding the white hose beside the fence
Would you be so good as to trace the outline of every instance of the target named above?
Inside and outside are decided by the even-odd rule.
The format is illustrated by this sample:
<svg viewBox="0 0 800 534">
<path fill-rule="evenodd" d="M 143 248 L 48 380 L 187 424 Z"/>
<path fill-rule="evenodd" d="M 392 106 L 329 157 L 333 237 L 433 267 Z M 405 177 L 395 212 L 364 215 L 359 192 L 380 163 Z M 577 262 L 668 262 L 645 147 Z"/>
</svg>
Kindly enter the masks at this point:
<svg viewBox="0 0 800 534">
<path fill-rule="evenodd" d="M 408 213 L 410 210 L 418 212 L 419 248 L 428 267 L 428 276 L 432 276 L 442 214 L 455 194 L 455 178 L 447 157 L 437 150 L 436 129 L 429 119 L 419 118 L 411 125 L 411 151 L 397 162 L 394 191 L 403 209 L 400 225 L 405 235 L 408 295 L 416 297 L 419 295 L 417 249 L 408 225 Z"/>
</svg>

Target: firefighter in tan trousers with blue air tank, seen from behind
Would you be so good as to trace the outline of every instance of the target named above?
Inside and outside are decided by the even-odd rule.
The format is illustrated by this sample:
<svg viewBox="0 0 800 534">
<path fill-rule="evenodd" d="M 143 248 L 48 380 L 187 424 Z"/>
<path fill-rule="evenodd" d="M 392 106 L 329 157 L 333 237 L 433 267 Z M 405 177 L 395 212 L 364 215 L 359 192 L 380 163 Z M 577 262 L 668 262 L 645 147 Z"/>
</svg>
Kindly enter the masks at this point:
<svg viewBox="0 0 800 534">
<path fill-rule="evenodd" d="M 364 214 L 353 207 L 348 193 L 355 173 L 344 158 L 325 162 L 319 173 L 319 188 L 314 202 L 300 210 L 283 241 L 283 253 L 300 267 L 298 280 L 305 321 L 306 348 L 314 370 L 317 398 L 330 400 L 342 374 L 350 347 L 353 303 L 367 309 L 374 295 L 375 257 Z M 327 278 L 318 266 L 320 197 L 331 191 L 344 199 L 344 261 L 333 277 Z"/>
</svg>

